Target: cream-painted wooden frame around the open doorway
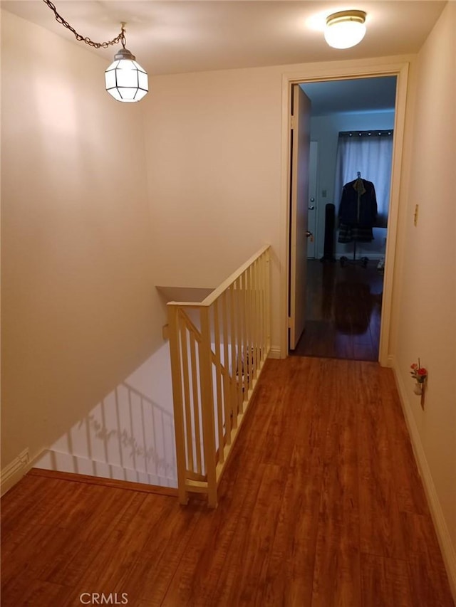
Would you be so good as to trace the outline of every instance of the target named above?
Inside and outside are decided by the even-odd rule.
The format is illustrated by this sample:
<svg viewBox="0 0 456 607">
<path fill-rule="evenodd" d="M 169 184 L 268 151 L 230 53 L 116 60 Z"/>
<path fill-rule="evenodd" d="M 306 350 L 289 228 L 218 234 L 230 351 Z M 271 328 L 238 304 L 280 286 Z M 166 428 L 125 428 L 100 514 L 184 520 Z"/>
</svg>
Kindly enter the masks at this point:
<svg viewBox="0 0 456 607">
<path fill-rule="evenodd" d="M 358 63 L 358 62 L 357 62 Z M 396 76 L 395 120 L 393 139 L 393 162 L 390 184 L 390 206 L 388 211 L 388 236 L 385 251 L 385 270 L 383 276 L 383 301 L 380 324 L 380 347 L 378 360 L 382 366 L 392 366 L 393 357 L 390 343 L 391 305 L 393 301 L 393 278 L 395 269 L 395 243 L 398 232 L 400 173 L 405 129 L 405 104 L 407 100 L 408 61 L 400 63 L 378 63 L 371 60 L 368 64 L 322 69 L 317 64 L 308 65 L 300 70 L 282 74 L 282 142 L 281 142 L 281 218 L 279 258 L 284 272 L 280 275 L 280 350 L 281 358 L 288 352 L 288 297 L 289 297 L 289 179 L 290 179 L 290 130 L 291 130 L 291 90 L 292 85 L 331 80 L 356 80 L 358 78 L 378 78 Z"/>
</svg>

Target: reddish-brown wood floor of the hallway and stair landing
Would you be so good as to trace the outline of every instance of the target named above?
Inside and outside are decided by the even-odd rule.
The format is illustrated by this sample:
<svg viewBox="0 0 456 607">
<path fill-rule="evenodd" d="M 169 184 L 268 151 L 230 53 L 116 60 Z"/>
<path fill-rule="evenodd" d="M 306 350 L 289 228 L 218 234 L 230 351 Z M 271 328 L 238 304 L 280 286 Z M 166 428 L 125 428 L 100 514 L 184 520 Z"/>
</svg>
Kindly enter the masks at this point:
<svg viewBox="0 0 456 607">
<path fill-rule="evenodd" d="M 453 606 L 392 373 L 371 362 L 267 361 L 217 510 L 39 472 L 1 505 L 3 607 Z"/>
</svg>

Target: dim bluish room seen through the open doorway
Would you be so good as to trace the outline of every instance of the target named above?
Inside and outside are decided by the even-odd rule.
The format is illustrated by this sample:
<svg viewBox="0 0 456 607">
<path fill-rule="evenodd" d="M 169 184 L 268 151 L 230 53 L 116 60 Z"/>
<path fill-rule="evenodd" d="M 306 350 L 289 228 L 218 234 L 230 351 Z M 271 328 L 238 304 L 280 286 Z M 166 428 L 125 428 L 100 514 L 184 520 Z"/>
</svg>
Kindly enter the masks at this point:
<svg viewBox="0 0 456 607">
<path fill-rule="evenodd" d="M 305 330 L 289 353 L 377 361 L 396 78 L 306 83 L 301 88 L 312 102 L 308 208 L 314 238 L 307 245 Z M 360 169 L 363 179 L 377 186 L 378 214 L 370 242 L 363 235 L 357 241 L 357 234 L 349 243 L 338 242 L 345 240 L 337 238 L 341 166 L 343 182 L 352 183 Z"/>
</svg>

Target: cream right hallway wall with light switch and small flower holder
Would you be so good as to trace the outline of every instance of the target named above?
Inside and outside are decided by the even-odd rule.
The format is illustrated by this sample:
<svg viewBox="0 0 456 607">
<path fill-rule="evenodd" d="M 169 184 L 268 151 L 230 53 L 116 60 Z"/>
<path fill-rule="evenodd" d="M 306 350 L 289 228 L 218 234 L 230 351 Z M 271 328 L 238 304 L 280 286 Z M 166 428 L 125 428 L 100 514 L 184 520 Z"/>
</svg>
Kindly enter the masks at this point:
<svg viewBox="0 0 456 607">
<path fill-rule="evenodd" d="M 393 337 L 395 373 L 456 596 L 455 31 L 450 2 L 413 65 Z M 418 357 L 429 371 L 424 411 L 409 375 Z"/>
</svg>

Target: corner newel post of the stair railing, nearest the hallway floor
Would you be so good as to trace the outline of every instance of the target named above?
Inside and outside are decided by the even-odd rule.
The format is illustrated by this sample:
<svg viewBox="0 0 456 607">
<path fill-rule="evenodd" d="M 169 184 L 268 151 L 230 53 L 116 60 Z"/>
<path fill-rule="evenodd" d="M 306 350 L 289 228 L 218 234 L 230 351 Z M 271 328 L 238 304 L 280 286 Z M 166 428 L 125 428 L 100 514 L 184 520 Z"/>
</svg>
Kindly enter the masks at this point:
<svg viewBox="0 0 456 607">
<path fill-rule="evenodd" d="M 202 306 L 199 373 L 201 377 L 201 414 L 204 445 L 204 468 L 207 474 L 207 502 L 217 506 L 217 470 L 215 463 L 214 391 L 212 388 L 212 347 L 208 306 Z"/>
</svg>

